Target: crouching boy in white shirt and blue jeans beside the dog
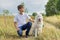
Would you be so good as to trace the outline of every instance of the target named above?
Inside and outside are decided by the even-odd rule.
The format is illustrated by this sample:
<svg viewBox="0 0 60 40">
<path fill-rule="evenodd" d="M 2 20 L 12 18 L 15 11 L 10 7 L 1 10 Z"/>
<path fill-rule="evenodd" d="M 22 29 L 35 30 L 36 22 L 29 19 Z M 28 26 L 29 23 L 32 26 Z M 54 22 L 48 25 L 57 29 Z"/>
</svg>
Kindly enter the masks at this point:
<svg viewBox="0 0 60 40">
<path fill-rule="evenodd" d="M 17 14 L 14 17 L 14 26 L 17 30 L 18 35 L 21 37 L 22 36 L 22 31 L 26 30 L 26 37 L 29 35 L 29 31 L 31 29 L 33 21 L 27 14 L 24 13 L 24 6 L 19 5 L 18 7 L 19 14 Z M 29 19 L 30 21 L 27 23 L 26 19 Z"/>
</svg>

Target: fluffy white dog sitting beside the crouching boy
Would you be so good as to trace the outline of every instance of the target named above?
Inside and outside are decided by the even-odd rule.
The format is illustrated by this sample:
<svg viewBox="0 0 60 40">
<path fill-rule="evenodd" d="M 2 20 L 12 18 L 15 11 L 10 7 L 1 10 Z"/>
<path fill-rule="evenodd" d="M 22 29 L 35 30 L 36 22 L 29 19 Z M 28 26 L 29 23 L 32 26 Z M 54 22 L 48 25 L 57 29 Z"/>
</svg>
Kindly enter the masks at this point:
<svg viewBox="0 0 60 40">
<path fill-rule="evenodd" d="M 42 28 L 43 28 L 43 16 L 42 14 L 37 14 L 37 16 L 35 17 L 33 27 L 33 35 L 37 37 L 38 34 L 42 33 Z"/>
</svg>

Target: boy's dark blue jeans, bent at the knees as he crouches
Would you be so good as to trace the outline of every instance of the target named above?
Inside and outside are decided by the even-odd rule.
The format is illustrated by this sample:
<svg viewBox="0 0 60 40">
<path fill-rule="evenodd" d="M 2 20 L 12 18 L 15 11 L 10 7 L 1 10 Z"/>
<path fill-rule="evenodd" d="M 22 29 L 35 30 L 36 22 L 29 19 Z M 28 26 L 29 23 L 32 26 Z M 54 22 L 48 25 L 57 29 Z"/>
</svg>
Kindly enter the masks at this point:
<svg viewBox="0 0 60 40">
<path fill-rule="evenodd" d="M 23 30 L 26 30 L 26 35 L 29 35 L 29 31 L 31 29 L 31 26 L 32 26 L 32 23 L 31 22 L 28 22 L 27 24 L 24 24 L 23 26 L 19 27 L 20 30 L 17 31 L 18 35 L 19 36 L 22 36 L 22 31 Z"/>
</svg>

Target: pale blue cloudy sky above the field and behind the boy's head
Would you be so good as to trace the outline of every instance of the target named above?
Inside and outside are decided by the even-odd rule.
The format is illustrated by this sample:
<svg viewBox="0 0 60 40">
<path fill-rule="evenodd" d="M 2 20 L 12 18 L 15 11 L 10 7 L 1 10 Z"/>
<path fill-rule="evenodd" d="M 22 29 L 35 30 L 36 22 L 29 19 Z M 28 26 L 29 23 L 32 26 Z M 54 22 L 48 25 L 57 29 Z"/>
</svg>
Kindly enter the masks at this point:
<svg viewBox="0 0 60 40">
<path fill-rule="evenodd" d="M 0 0 L 0 13 L 3 9 L 8 9 L 12 13 L 18 13 L 17 6 L 22 2 L 29 13 L 43 12 L 48 0 Z"/>
</svg>

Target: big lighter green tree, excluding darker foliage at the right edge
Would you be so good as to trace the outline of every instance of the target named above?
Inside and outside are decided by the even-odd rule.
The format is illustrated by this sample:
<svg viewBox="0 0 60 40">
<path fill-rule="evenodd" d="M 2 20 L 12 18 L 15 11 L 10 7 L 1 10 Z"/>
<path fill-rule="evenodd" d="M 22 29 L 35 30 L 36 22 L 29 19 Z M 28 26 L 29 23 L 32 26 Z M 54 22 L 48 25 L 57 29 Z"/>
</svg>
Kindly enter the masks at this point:
<svg viewBox="0 0 60 40">
<path fill-rule="evenodd" d="M 57 9 L 56 9 L 56 3 L 57 0 L 49 0 L 46 4 L 46 15 L 47 16 L 52 16 L 57 14 Z"/>
</svg>

